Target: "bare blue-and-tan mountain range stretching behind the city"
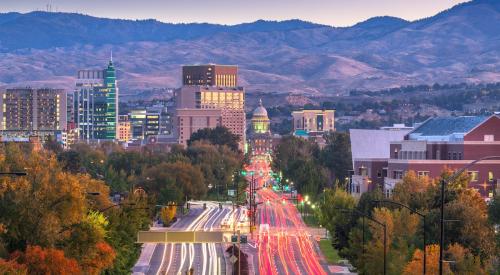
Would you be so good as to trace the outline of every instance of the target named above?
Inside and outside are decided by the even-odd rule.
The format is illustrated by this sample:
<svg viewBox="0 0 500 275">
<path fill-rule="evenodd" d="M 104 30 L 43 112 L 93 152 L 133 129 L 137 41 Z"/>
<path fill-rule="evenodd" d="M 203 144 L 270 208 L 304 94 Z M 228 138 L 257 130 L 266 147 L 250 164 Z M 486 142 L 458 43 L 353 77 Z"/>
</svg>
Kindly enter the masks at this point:
<svg viewBox="0 0 500 275">
<path fill-rule="evenodd" d="M 375 17 L 351 27 L 300 20 L 234 26 L 119 20 L 75 13 L 0 14 L 0 87 L 71 89 L 76 71 L 113 52 L 121 91 L 180 85 L 184 64 L 237 64 L 249 92 L 349 90 L 500 81 L 500 1 L 435 16 Z"/>
</svg>

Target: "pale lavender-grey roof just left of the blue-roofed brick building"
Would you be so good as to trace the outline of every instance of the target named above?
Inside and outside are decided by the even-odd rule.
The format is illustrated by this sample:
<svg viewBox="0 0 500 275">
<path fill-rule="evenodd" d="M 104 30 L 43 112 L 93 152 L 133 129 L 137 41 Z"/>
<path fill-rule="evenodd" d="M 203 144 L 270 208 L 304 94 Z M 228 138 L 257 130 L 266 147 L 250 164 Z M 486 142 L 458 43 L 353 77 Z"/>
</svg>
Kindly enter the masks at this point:
<svg viewBox="0 0 500 275">
<path fill-rule="evenodd" d="M 392 141 L 404 140 L 409 129 L 350 129 L 352 159 L 388 159 Z"/>
</svg>

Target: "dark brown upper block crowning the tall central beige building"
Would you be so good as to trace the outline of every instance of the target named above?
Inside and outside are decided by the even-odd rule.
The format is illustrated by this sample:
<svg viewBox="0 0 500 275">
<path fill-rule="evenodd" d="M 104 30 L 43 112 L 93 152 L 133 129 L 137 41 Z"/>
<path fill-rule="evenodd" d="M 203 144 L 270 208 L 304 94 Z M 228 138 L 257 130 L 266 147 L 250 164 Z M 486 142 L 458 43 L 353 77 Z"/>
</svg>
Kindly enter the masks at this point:
<svg viewBox="0 0 500 275">
<path fill-rule="evenodd" d="M 238 86 L 238 66 L 234 65 L 190 65 L 182 67 L 184 86 Z"/>
</svg>

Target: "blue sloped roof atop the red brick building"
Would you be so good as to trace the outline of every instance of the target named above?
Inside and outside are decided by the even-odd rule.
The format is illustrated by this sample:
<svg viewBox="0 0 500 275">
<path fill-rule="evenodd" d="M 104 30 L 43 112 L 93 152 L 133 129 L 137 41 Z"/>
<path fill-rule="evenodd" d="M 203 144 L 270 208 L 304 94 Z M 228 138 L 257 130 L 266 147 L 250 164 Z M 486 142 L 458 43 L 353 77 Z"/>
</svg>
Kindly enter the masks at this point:
<svg viewBox="0 0 500 275">
<path fill-rule="evenodd" d="M 420 136 L 465 134 L 483 123 L 487 118 L 487 116 L 435 117 L 422 123 L 411 134 Z"/>
</svg>

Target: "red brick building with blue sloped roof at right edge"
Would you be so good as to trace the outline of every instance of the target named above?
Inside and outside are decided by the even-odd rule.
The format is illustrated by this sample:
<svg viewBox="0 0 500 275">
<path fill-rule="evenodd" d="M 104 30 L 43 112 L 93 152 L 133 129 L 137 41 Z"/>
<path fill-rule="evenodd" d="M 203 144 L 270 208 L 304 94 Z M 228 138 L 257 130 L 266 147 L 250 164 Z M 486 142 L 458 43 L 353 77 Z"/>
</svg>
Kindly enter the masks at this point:
<svg viewBox="0 0 500 275">
<path fill-rule="evenodd" d="M 500 117 L 461 116 L 431 118 L 401 141 L 391 142 L 386 195 L 410 170 L 436 178 L 446 168 L 457 170 L 474 160 L 500 155 Z M 500 188 L 500 160 L 481 161 L 468 171 L 469 188 L 492 197 Z"/>
</svg>

